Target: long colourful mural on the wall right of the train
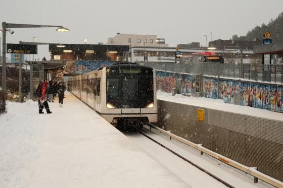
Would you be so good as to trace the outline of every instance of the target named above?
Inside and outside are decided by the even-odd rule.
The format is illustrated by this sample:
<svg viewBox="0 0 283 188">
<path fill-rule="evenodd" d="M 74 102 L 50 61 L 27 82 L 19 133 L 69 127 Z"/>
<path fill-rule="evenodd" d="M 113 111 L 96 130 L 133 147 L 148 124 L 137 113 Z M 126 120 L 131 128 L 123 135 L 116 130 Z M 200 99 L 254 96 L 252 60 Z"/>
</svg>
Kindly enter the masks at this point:
<svg viewBox="0 0 283 188">
<path fill-rule="evenodd" d="M 166 84 L 165 84 L 166 80 Z M 172 89 L 177 89 L 177 93 L 191 94 L 199 92 L 200 88 L 199 75 L 178 74 L 156 71 L 157 90 L 171 93 Z M 225 103 L 233 104 L 234 93 L 241 95 L 241 105 L 268 110 L 283 112 L 283 86 L 272 84 L 260 84 L 254 82 L 239 82 L 237 80 L 219 80 L 217 78 L 204 77 L 203 95 L 206 98 L 217 99 L 218 89 L 219 98 Z"/>
</svg>

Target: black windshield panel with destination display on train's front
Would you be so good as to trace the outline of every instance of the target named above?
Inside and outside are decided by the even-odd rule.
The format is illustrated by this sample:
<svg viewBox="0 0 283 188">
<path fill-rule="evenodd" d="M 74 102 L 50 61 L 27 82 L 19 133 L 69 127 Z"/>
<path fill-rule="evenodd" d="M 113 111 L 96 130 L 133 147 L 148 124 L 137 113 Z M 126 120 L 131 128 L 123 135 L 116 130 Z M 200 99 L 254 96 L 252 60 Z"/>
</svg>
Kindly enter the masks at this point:
<svg viewBox="0 0 283 188">
<path fill-rule="evenodd" d="M 153 70 L 114 69 L 107 74 L 107 103 L 115 108 L 145 108 L 153 102 Z"/>
</svg>

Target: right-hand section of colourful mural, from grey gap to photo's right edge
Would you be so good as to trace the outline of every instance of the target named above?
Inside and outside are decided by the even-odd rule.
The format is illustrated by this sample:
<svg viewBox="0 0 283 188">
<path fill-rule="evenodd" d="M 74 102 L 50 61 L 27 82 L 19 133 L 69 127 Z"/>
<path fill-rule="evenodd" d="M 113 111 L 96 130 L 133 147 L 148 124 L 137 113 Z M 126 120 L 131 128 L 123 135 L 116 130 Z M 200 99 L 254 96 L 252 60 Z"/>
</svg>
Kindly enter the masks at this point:
<svg viewBox="0 0 283 188">
<path fill-rule="evenodd" d="M 225 103 L 233 103 L 235 92 L 241 95 L 241 105 L 268 110 L 283 111 L 283 86 L 247 83 L 220 79 L 220 99 Z M 204 78 L 204 95 L 207 98 L 217 98 L 217 79 Z M 216 92 L 216 95 L 214 94 Z"/>
</svg>

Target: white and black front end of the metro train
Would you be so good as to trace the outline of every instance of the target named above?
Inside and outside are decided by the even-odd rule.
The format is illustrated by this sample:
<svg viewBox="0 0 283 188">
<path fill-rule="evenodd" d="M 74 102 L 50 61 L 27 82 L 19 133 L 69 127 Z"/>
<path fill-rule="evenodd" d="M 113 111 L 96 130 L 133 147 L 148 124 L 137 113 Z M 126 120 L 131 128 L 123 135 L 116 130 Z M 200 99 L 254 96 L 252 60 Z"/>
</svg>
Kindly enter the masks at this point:
<svg viewBox="0 0 283 188">
<path fill-rule="evenodd" d="M 154 69 L 133 64 L 106 68 L 106 112 L 114 126 L 157 122 Z"/>
</svg>

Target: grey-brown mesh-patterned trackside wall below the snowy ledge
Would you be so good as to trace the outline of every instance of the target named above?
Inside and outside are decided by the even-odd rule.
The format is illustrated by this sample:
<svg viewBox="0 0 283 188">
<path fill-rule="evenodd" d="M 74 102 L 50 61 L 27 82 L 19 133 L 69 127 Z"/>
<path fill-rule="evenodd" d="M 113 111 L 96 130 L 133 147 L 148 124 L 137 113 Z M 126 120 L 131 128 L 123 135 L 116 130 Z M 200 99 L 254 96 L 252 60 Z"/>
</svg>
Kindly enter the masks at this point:
<svg viewBox="0 0 283 188">
<path fill-rule="evenodd" d="M 283 181 L 283 121 L 158 100 L 157 125 Z"/>
</svg>

